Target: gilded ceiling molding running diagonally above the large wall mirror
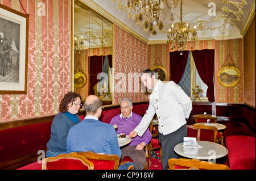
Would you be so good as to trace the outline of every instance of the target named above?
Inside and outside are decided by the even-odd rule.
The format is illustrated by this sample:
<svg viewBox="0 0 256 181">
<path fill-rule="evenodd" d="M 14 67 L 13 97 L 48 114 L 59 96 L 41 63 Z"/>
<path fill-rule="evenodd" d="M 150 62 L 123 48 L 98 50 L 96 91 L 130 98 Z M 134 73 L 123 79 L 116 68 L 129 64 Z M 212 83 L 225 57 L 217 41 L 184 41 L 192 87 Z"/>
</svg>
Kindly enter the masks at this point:
<svg viewBox="0 0 256 181">
<path fill-rule="evenodd" d="M 86 6 L 89 6 L 90 9 L 97 12 L 101 16 L 104 16 L 104 18 L 108 19 L 110 22 L 112 22 L 112 23 L 116 24 L 117 26 L 123 28 L 123 30 L 131 33 L 131 35 L 137 37 L 139 40 L 143 41 L 144 43 L 148 43 L 148 40 L 145 37 L 139 35 L 137 32 L 135 32 L 131 28 L 127 27 L 125 23 L 121 22 L 120 20 L 115 18 L 112 14 L 110 14 L 109 12 L 102 9 L 102 7 L 99 6 L 97 3 L 95 3 L 94 1 L 92 1 L 92 0 L 80 0 L 80 1 L 82 3 L 84 3 Z"/>
</svg>

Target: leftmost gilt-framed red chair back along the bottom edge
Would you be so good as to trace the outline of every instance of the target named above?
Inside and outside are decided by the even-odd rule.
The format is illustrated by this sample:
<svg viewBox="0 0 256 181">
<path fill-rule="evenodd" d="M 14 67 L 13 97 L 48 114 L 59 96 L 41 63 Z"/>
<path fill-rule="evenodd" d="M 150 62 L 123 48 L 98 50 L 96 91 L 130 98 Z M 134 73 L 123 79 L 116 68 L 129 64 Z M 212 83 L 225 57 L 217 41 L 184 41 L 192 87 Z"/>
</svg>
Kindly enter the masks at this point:
<svg viewBox="0 0 256 181">
<path fill-rule="evenodd" d="M 44 158 L 42 170 L 93 170 L 93 163 L 76 152 Z"/>
</svg>

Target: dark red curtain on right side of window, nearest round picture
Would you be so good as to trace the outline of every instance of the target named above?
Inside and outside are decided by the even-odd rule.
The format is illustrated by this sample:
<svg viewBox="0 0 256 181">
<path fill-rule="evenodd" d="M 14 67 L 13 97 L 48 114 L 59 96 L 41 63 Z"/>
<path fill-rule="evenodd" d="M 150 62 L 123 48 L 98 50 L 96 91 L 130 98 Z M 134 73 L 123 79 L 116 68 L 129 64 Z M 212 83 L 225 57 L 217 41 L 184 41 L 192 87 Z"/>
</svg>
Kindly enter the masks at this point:
<svg viewBox="0 0 256 181">
<path fill-rule="evenodd" d="M 208 86 L 208 100 L 214 102 L 214 49 L 193 50 L 192 55 L 200 78 Z"/>
</svg>

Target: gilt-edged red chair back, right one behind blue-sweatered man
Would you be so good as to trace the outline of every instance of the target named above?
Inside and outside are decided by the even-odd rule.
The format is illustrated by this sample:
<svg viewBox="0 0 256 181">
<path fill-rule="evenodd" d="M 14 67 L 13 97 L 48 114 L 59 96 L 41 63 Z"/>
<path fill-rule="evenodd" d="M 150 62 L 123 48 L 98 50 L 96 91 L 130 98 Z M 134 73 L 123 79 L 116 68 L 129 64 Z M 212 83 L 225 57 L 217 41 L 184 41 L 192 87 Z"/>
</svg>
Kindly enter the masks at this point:
<svg viewBox="0 0 256 181">
<path fill-rule="evenodd" d="M 118 170 L 119 157 L 115 154 L 94 153 L 93 151 L 77 153 L 93 162 L 94 170 Z"/>
</svg>

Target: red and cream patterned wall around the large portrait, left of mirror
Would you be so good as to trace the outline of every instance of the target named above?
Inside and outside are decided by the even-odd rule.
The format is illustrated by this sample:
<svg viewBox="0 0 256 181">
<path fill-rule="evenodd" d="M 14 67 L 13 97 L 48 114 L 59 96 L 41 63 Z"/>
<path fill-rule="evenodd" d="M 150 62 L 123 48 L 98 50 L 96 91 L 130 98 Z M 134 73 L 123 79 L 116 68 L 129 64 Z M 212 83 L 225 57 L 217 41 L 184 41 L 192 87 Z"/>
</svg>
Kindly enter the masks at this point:
<svg viewBox="0 0 256 181">
<path fill-rule="evenodd" d="M 28 91 L 0 95 L 1 122 L 55 114 L 61 98 L 71 91 L 71 0 L 20 2 L 30 14 Z M 17 0 L 0 3 L 24 13 Z"/>
</svg>

